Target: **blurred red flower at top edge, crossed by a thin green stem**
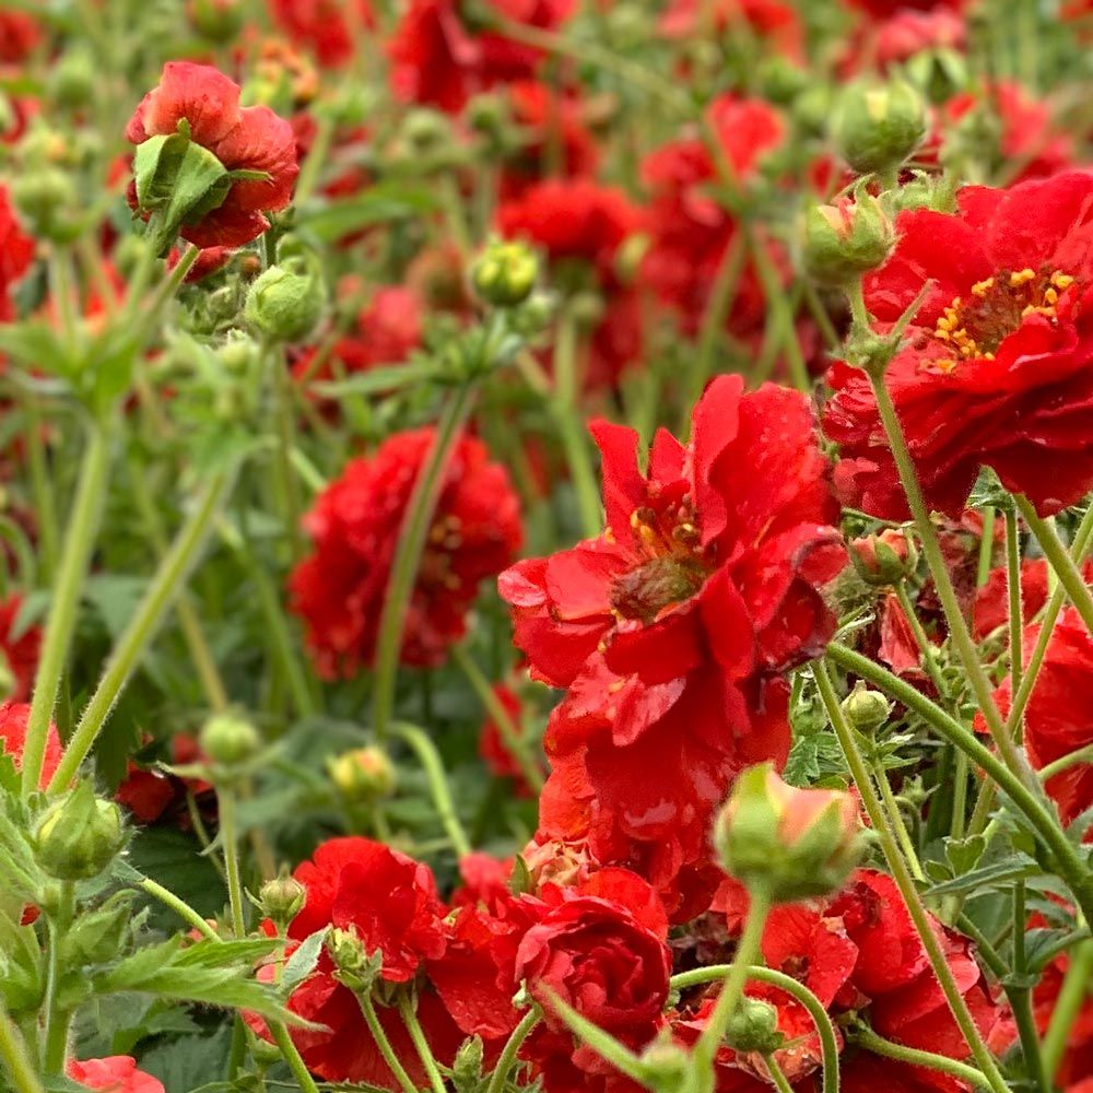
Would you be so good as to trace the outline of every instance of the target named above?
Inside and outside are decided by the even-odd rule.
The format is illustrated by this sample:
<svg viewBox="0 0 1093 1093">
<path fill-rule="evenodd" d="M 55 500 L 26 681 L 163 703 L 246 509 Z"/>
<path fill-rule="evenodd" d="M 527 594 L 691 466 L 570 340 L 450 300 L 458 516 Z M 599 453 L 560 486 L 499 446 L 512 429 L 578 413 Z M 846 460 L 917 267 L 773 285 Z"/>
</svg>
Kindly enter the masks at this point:
<svg viewBox="0 0 1093 1093">
<path fill-rule="evenodd" d="M 501 20 L 556 30 L 572 0 L 486 0 Z M 454 0 L 412 0 L 390 42 L 391 82 L 414 103 L 458 113 L 472 95 L 534 75 L 542 54 L 503 33 L 475 33 Z"/>
</svg>

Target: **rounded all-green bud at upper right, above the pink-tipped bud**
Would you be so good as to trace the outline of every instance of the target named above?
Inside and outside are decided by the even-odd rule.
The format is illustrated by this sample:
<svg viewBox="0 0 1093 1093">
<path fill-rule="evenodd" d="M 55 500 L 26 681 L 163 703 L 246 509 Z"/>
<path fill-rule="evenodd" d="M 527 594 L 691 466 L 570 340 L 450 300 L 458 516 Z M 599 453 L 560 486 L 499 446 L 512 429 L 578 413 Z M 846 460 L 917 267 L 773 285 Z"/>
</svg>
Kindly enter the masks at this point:
<svg viewBox="0 0 1093 1093">
<path fill-rule="evenodd" d="M 858 174 L 900 167 L 926 136 L 926 109 L 905 81 L 846 89 L 835 118 L 839 154 Z"/>
</svg>

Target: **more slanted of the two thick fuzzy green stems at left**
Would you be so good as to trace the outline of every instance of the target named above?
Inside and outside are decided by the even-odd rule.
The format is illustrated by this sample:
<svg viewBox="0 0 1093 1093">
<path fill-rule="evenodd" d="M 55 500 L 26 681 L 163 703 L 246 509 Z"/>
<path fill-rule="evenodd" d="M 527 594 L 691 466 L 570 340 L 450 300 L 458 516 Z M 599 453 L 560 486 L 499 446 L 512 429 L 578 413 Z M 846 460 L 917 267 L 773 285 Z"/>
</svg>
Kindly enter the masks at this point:
<svg viewBox="0 0 1093 1093">
<path fill-rule="evenodd" d="M 91 751 L 118 695 L 155 636 L 167 608 L 200 557 L 214 517 L 230 492 L 232 479 L 232 474 L 220 473 L 208 483 L 171 550 L 164 555 L 137 612 L 114 646 L 95 693 L 80 716 L 57 773 L 49 783 L 50 794 L 60 792 L 72 780 Z"/>
</svg>

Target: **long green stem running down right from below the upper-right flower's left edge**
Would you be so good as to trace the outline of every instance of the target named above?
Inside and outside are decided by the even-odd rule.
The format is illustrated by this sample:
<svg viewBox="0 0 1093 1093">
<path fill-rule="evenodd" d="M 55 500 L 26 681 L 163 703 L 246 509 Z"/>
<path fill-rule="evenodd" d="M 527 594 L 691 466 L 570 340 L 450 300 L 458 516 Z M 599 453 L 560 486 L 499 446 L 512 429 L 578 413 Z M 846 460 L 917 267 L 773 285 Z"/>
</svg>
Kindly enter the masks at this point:
<svg viewBox="0 0 1093 1093">
<path fill-rule="evenodd" d="M 933 584 L 938 591 L 938 599 L 944 611 L 945 622 L 949 625 L 949 634 L 953 645 L 964 665 L 967 681 L 975 695 L 976 704 L 983 713 L 983 718 L 990 731 L 990 737 L 1002 757 L 1002 762 L 1013 774 L 1026 785 L 1033 785 L 1035 775 L 1029 767 L 1020 750 L 1013 741 L 1013 737 L 1006 731 L 1006 724 L 995 703 L 994 687 L 984 670 L 976 650 L 972 635 L 968 633 L 967 623 L 961 611 L 960 602 L 956 599 L 956 590 L 953 588 L 952 577 L 949 567 L 945 565 L 944 555 L 941 553 L 941 543 L 938 541 L 938 533 L 930 520 L 929 510 L 922 497 L 922 491 L 918 484 L 918 475 L 915 471 L 915 463 L 912 460 L 907 442 L 903 435 L 903 427 L 900 425 L 900 418 L 896 414 L 892 396 L 884 384 L 883 376 L 871 375 L 870 383 L 873 396 L 877 399 L 877 409 L 881 423 L 892 448 L 892 458 L 895 460 L 900 472 L 900 481 L 903 484 L 907 504 L 910 507 L 912 516 L 915 519 L 915 528 L 918 531 L 919 541 L 922 544 L 922 553 L 926 555 Z"/>
</svg>

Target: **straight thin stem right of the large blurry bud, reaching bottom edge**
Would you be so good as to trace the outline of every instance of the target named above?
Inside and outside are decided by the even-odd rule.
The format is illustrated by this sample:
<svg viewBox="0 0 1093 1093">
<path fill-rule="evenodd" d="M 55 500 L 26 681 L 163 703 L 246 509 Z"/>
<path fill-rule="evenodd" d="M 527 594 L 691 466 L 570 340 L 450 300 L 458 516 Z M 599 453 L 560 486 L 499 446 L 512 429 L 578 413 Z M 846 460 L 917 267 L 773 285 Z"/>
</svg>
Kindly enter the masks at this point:
<svg viewBox="0 0 1093 1093">
<path fill-rule="evenodd" d="M 986 1077 L 990 1089 L 994 1090 L 994 1093 L 1008 1093 L 1009 1088 L 1006 1084 L 1006 1079 L 998 1069 L 998 1063 L 990 1054 L 990 1049 L 983 1042 L 979 1030 L 976 1027 L 975 1019 L 968 1011 L 967 1003 L 964 1001 L 964 996 L 961 994 L 952 968 L 945 960 L 941 942 L 933 931 L 929 915 L 918 894 L 918 889 L 915 886 L 915 879 L 912 875 L 910 869 L 900 853 L 895 837 L 885 823 L 884 811 L 873 790 L 872 781 L 869 778 L 869 771 L 865 760 L 861 757 L 857 740 L 854 737 L 854 730 L 847 724 L 842 707 L 838 704 L 835 685 L 827 671 L 827 666 L 823 661 L 814 661 L 814 669 L 816 685 L 820 687 L 820 696 L 823 698 L 823 704 L 827 709 L 827 717 L 831 719 L 832 727 L 842 745 L 843 754 L 846 756 L 846 762 L 850 767 L 855 785 L 858 787 L 861 803 L 880 841 L 884 858 L 888 861 L 889 869 L 892 871 L 892 878 L 900 889 L 900 894 L 907 906 L 907 913 L 915 924 L 915 929 L 918 931 L 919 939 L 922 942 L 922 949 L 930 962 L 930 966 L 933 968 L 933 974 L 937 976 L 942 994 L 945 996 L 945 1001 L 949 1003 L 953 1019 L 964 1039 L 967 1042 L 967 1046 L 975 1057 L 979 1069 Z"/>
</svg>

